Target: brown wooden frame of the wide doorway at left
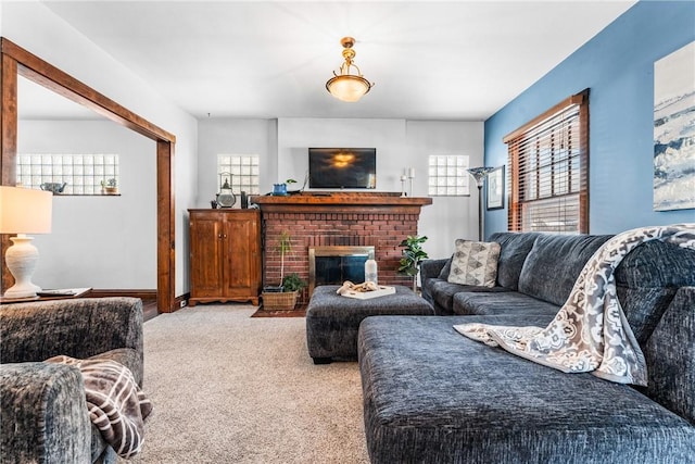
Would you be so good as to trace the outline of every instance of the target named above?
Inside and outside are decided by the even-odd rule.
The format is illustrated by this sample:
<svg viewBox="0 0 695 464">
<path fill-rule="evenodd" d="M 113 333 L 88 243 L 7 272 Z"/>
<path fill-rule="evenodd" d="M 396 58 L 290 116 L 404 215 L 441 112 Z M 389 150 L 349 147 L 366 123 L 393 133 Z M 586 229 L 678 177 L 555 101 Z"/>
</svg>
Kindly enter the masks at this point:
<svg viewBox="0 0 695 464">
<path fill-rule="evenodd" d="M 13 186 L 16 183 L 17 76 L 40 84 L 156 142 L 156 300 L 159 311 L 166 313 L 175 311 L 174 146 L 176 137 L 4 37 L 0 37 L 0 54 L 2 61 L 0 185 Z M 0 253 L 4 255 L 4 250 L 10 244 L 8 235 L 3 235 L 0 240 Z M 12 285 L 12 276 L 4 264 L 1 277 L 2 288 L 9 288 Z"/>
</svg>

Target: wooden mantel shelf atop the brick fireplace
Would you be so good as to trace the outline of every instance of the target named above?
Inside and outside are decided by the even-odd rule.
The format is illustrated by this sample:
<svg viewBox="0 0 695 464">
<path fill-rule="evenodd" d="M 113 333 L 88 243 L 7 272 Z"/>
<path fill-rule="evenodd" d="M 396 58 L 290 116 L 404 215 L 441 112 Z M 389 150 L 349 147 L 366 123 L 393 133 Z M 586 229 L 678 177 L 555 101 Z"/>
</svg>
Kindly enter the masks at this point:
<svg viewBox="0 0 695 464">
<path fill-rule="evenodd" d="M 401 197 L 390 192 L 302 192 L 288 196 L 252 197 L 251 202 L 268 213 L 383 213 L 419 214 L 420 208 L 432 204 L 431 198 Z"/>
</svg>

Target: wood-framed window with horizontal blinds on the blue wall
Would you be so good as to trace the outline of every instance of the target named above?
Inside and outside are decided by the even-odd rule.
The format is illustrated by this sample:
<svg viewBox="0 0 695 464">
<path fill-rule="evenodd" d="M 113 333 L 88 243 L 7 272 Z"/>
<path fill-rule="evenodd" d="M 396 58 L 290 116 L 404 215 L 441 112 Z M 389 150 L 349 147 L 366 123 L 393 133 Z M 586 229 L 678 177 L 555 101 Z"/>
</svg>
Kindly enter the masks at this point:
<svg viewBox="0 0 695 464">
<path fill-rule="evenodd" d="M 508 229 L 589 233 L 589 89 L 504 138 Z"/>
</svg>

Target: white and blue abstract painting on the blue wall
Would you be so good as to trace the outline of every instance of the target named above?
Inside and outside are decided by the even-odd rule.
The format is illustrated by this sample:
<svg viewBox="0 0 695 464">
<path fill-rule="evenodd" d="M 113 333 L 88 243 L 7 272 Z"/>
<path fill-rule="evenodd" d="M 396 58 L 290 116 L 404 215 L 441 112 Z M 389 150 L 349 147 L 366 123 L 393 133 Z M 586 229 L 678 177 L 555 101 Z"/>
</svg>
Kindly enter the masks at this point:
<svg viewBox="0 0 695 464">
<path fill-rule="evenodd" d="M 695 208 L 695 42 L 654 63 L 654 211 Z"/>
</svg>

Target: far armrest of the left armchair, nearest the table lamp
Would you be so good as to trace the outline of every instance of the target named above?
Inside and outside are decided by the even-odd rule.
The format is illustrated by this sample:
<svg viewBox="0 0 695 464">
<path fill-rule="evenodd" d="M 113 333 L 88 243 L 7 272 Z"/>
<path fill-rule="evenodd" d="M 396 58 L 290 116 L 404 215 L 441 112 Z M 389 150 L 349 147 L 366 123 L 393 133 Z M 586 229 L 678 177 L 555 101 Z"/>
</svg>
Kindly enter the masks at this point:
<svg viewBox="0 0 695 464">
<path fill-rule="evenodd" d="M 0 362 L 85 359 L 131 348 L 142 356 L 142 301 L 85 298 L 0 306 Z"/>
</svg>

